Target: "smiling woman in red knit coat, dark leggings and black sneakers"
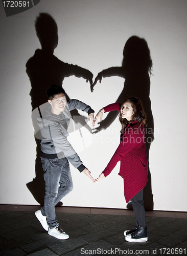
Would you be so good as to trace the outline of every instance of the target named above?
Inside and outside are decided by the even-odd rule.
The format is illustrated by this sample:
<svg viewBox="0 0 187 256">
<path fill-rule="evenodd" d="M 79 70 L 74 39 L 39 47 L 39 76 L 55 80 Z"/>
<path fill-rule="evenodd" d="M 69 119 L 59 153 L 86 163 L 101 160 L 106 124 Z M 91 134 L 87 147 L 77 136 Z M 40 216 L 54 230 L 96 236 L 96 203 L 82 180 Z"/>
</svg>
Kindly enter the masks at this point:
<svg viewBox="0 0 187 256">
<path fill-rule="evenodd" d="M 143 201 L 143 188 L 148 180 L 148 163 L 146 156 L 145 130 L 146 115 L 142 102 L 135 97 L 124 100 L 121 104 L 115 102 L 101 109 L 95 117 L 95 122 L 102 121 L 103 113 L 118 110 L 122 124 L 121 141 L 108 165 L 98 179 L 108 176 L 115 165 L 121 161 L 120 173 L 124 179 L 124 195 L 126 202 L 131 200 L 136 217 L 136 227 L 125 230 L 125 240 L 128 242 L 146 242 L 147 226 Z"/>
</svg>

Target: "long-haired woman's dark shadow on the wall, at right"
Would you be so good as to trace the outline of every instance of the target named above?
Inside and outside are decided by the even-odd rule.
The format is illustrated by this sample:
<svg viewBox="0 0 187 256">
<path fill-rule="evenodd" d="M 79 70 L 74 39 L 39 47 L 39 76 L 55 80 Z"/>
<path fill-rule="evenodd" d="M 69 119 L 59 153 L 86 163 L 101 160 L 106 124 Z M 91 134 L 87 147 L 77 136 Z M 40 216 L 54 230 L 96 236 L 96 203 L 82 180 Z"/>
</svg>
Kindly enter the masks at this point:
<svg viewBox="0 0 187 256">
<path fill-rule="evenodd" d="M 123 61 L 122 67 L 111 67 L 98 73 L 93 87 L 97 81 L 103 77 L 120 76 L 125 78 L 124 88 L 116 100 L 116 102 L 123 102 L 125 98 L 137 97 L 141 99 L 144 110 L 147 115 L 147 126 L 146 126 L 146 152 L 149 162 L 149 150 L 152 141 L 154 140 L 154 121 L 151 111 L 151 100 L 150 100 L 150 75 L 152 70 L 152 60 L 150 56 L 150 50 L 148 48 L 147 41 L 144 38 L 138 36 L 131 36 L 123 50 Z M 107 117 L 100 123 L 97 128 L 97 132 L 102 129 L 106 129 L 119 115 L 118 111 L 110 112 Z M 144 204 L 146 210 L 153 210 L 153 195 L 151 188 L 151 174 L 148 170 L 148 183 L 144 188 Z M 128 206 L 131 209 L 131 206 Z"/>
</svg>

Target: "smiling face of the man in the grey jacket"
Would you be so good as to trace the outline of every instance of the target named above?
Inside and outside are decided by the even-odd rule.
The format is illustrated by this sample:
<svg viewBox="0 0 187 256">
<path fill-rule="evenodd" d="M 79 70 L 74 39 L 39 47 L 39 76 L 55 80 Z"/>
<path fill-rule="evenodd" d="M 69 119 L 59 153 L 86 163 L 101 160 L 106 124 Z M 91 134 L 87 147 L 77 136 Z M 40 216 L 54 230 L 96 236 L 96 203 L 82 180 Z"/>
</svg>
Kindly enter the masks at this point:
<svg viewBox="0 0 187 256">
<path fill-rule="evenodd" d="M 60 115 L 62 111 L 65 109 L 66 105 L 66 98 L 63 93 L 56 94 L 54 96 L 54 99 L 48 100 L 48 102 L 51 105 L 51 112 L 55 115 Z"/>
</svg>

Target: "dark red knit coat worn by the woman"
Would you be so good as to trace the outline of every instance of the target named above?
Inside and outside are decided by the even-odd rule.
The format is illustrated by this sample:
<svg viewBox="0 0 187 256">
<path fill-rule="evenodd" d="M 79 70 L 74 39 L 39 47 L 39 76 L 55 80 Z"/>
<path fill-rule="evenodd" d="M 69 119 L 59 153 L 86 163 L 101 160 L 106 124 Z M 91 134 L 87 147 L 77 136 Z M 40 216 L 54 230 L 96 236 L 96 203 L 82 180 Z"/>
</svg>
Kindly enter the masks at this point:
<svg viewBox="0 0 187 256">
<path fill-rule="evenodd" d="M 103 108 L 105 112 L 121 109 L 121 103 L 113 103 Z M 146 155 L 145 130 L 139 122 L 127 125 L 122 141 L 103 171 L 108 176 L 115 165 L 121 161 L 120 173 L 124 179 L 124 195 L 126 202 L 141 191 L 148 181 L 148 161 Z"/>
</svg>

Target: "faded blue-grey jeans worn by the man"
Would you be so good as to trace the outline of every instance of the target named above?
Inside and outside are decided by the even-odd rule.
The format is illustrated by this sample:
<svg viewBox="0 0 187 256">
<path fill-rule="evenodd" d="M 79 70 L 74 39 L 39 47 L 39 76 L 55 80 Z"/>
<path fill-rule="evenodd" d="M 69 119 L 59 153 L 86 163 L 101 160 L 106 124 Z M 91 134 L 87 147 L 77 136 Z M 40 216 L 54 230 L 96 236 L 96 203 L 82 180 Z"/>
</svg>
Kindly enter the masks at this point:
<svg viewBox="0 0 187 256">
<path fill-rule="evenodd" d="M 73 181 L 67 158 L 46 159 L 41 157 L 44 171 L 45 196 L 41 213 L 46 216 L 50 228 L 59 226 L 55 205 L 73 189 Z"/>
</svg>

